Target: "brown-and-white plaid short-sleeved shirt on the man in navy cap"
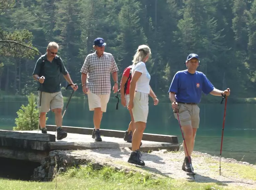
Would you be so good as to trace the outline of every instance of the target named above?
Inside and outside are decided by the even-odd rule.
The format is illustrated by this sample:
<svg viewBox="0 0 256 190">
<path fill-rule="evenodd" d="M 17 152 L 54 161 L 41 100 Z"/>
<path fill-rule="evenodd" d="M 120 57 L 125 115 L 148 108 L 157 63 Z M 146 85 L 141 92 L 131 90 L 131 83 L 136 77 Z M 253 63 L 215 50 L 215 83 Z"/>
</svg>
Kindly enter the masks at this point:
<svg viewBox="0 0 256 190">
<path fill-rule="evenodd" d="M 96 51 L 87 55 L 81 73 L 87 74 L 87 87 L 93 94 L 108 94 L 111 90 L 110 72 L 118 71 L 111 53 L 104 52 L 98 57 Z"/>
</svg>

